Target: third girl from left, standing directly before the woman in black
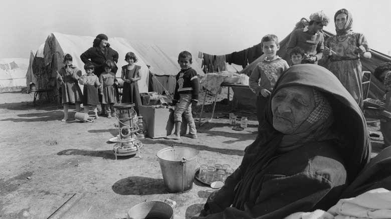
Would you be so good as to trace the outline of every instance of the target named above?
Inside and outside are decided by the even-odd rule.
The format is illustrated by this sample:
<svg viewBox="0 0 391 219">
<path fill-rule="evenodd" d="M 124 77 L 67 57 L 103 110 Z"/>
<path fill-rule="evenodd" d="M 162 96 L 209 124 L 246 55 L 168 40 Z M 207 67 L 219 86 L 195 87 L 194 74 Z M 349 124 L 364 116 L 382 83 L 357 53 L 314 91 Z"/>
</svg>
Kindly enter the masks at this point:
<svg viewBox="0 0 391 219">
<path fill-rule="evenodd" d="M 115 116 L 114 103 L 117 103 L 117 91 L 114 84 L 118 85 L 118 81 L 115 78 L 115 74 L 111 72 L 114 67 L 112 60 L 106 60 L 103 63 L 105 71 L 100 74 L 99 82 L 102 84 L 100 94 L 102 95 L 102 103 L 105 105 L 105 112 L 108 118 Z"/>
</svg>

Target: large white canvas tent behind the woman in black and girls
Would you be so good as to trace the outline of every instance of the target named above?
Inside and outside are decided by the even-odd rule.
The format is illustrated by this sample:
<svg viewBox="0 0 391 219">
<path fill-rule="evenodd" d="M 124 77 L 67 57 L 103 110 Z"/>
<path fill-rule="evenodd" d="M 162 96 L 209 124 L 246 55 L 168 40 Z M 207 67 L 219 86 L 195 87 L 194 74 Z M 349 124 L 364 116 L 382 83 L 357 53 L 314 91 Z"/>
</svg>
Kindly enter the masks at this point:
<svg viewBox="0 0 391 219">
<path fill-rule="evenodd" d="M 63 54 L 72 55 L 73 64 L 84 71 L 84 63 L 80 55 L 88 48 L 92 47 L 93 36 L 68 35 L 59 32 L 50 33 L 44 44 L 42 44 L 33 60 L 27 73 L 27 84 L 36 81 L 37 88 L 47 88 L 51 78 L 57 77 L 57 70 L 63 66 Z M 138 58 L 137 65 L 141 66 L 141 80 L 138 81 L 140 92 L 169 91 L 173 93 L 175 86 L 175 76 L 180 67 L 177 63 L 178 54 L 186 48 L 160 45 L 155 43 L 135 42 L 122 37 L 108 39 L 110 47 L 119 54 L 116 77 L 121 77 L 120 67 L 126 65 L 125 54 L 129 51 L 135 53 Z M 200 76 L 204 75 L 198 64 L 192 67 Z M 56 85 L 59 87 L 59 83 Z M 54 89 L 54 95 L 58 92 Z"/>
</svg>

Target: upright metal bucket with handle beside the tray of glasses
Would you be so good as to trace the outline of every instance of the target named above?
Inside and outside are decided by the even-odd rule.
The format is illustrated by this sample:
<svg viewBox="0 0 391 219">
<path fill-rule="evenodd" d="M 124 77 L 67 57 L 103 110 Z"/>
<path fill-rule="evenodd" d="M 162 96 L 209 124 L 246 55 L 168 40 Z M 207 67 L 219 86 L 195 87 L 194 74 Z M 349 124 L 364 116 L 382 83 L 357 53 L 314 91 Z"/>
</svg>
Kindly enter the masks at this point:
<svg viewBox="0 0 391 219">
<path fill-rule="evenodd" d="M 167 191 L 183 193 L 193 187 L 199 153 L 198 149 L 187 146 L 171 146 L 157 152 Z"/>
</svg>

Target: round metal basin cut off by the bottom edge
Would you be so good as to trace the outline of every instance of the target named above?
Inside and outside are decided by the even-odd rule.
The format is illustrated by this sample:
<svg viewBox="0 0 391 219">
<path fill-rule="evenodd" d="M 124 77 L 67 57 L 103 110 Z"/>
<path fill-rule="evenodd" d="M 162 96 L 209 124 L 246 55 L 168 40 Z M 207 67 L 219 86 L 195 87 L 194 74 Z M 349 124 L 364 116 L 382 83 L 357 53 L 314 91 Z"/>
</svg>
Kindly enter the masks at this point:
<svg viewBox="0 0 391 219">
<path fill-rule="evenodd" d="M 173 219 L 172 207 L 163 201 L 145 201 L 130 208 L 127 219 Z"/>
</svg>

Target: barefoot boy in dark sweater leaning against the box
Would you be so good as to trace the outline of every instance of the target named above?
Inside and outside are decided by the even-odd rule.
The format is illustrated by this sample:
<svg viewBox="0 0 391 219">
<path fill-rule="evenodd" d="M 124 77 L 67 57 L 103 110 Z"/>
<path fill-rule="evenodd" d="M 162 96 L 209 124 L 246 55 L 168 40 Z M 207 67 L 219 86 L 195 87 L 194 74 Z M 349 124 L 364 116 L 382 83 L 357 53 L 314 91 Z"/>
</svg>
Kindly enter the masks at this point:
<svg viewBox="0 0 391 219">
<path fill-rule="evenodd" d="M 178 55 L 178 64 L 180 71 L 176 75 L 176 85 L 172 105 L 176 105 L 174 111 L 175 132 L 166 136 L 166 139 L 180 139 L 180 125 L 182 123 L 182 114 L 186 118 L 189 126 L 187 137 L 197 138 L 197 129 L 191 114 L 191 104 L 197 104 L 199 83 L 197 71 L 191 68 L 191 53 L 182 51 Z"/>
</svg>

